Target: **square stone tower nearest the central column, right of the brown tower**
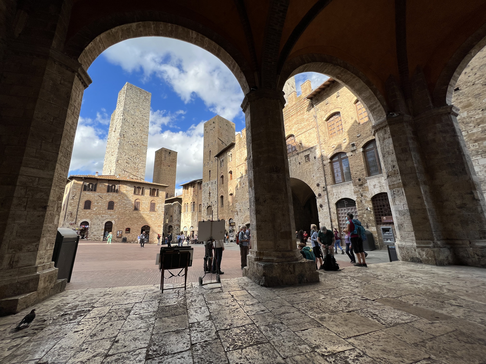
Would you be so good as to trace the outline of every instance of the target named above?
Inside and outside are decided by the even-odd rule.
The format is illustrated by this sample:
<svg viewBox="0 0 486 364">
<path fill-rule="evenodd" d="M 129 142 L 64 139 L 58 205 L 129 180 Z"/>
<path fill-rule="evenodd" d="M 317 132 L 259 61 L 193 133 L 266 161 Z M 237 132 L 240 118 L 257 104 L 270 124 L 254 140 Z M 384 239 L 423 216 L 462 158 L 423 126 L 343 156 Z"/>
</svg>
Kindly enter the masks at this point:
<svg viewBox="0 0 486 364">
<path fill-rule="evenodd" d="M 219 115 L 204 123 L 203 152 L 203 206 L 202 215 L 206 217 L 208 206 L 214 209 L 216 219 L 216 202 L 218 201 L 217 179 L 221 168 L 214 156 L 228 144 L 235 141 L 235 124 Z M 222 168 L 226 168 L 223 166 Z M 210 215 L 210 214 L 209 214 Z"/>
</svg>

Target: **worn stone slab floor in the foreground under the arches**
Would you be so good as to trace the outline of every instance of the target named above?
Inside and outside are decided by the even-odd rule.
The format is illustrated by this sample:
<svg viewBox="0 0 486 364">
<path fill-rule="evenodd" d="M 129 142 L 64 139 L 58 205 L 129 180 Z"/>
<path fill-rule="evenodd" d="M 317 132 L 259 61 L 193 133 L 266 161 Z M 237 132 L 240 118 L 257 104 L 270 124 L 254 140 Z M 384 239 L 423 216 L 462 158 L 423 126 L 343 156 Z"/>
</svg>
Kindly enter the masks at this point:
<svg viewBox="0 0 486 364">
<path fill-rule="evenodd" d="M 65 291 L 0 318 L 0 363 L 485 363 L 485 269 L 393 262 L 320 279 Z"/>
</svg>

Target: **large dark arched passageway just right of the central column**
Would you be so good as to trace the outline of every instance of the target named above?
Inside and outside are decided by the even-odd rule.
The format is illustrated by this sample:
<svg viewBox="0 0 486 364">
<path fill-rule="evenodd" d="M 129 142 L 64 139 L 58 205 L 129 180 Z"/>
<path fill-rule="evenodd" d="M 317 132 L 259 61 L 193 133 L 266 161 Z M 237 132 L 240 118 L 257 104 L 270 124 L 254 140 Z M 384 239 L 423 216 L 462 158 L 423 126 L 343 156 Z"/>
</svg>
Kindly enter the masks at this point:
<svg viewBox="0 0 486 364">
<path fill-rule="evenodd" d="M 294 206 L 295 230 L 310 231 L 311 224 L 319 226 L 317 200 L 309 185 L 297 178 L 290 179 Z"/>
</svg>

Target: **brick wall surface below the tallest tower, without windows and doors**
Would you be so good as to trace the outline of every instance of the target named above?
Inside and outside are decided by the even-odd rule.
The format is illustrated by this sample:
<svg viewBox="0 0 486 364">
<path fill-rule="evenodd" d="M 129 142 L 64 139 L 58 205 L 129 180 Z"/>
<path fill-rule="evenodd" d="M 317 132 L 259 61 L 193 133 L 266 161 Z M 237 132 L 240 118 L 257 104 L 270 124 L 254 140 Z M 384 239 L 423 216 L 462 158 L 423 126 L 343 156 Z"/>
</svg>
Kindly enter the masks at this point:
<svg viewBox="0 0 486 364">
<path fill-rule="evenodd" d="M 149 243 L 156 243 L 157 234 L 162 233 L 164 221 L 165 186 L 149 182 L 106 181 L 94 178 L 85 178 L 84 182 L 97 183 L 96 191 L 82 191 L 83 178 L 73 177 L 66 185 L 59 227 L 79 228 L 81 222 L 87 221 L 89 240 L 100 241 L 103 240 L 104 224 L 111 221 L 113 242 L 121 242 L 123 236 L 126 236 L 127 242 L 136 242 L 142 226 L 148 225 Z M 106 192 L 108 183 L 116 184 L 119 192 Z M 134 187 L 144 187 L 144 195 L 135 195 Z M 150 188 L 159 189 L 159 196 L 150 196 Z M 136 199 L 140 200 L 139 211 L 134 210 Z M 84 209 L 86 200 L 91 201 L 89 210 Z M 113 210 L 107 209 L 109 201 L 114 201 Z M 152 201 L 156 203 L 156 211 L 150 211 Z M 130 233 L 125 233 L 126 228 L 130 228 Z M 117 231 L 122 231 L 119 238 L 116 237 Z"/>
</svg>

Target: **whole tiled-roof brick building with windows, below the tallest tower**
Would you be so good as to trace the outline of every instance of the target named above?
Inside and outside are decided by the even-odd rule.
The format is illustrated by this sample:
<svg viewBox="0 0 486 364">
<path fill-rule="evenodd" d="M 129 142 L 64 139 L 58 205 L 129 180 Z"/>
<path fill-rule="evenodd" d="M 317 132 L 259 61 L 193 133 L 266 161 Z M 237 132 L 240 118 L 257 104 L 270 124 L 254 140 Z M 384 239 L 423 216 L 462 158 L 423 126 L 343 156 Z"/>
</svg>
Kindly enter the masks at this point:
<svg viewBox="0 0 486 364">
<path fill-rule="evenodd" d="M 74 228 L 84 238 L 137 242 L 149 233 L 149 243 L 162 233 L 165 185 L 106 175 L 69 176 L 59 227 Z"/>
</svg>

